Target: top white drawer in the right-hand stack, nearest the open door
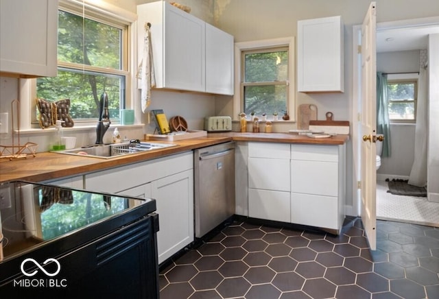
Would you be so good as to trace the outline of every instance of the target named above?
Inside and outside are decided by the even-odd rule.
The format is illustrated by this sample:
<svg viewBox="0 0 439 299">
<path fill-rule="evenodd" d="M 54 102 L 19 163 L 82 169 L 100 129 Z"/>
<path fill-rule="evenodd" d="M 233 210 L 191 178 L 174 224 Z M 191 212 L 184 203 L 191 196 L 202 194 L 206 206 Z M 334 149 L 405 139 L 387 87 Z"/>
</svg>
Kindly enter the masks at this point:
<svg viewBox="0 0 439 299">
<path fill-rule="evenodd" d="M 300 145 L 291 146 L 293 160 L 338 161 L 337 145 Z"/>
</svg>

